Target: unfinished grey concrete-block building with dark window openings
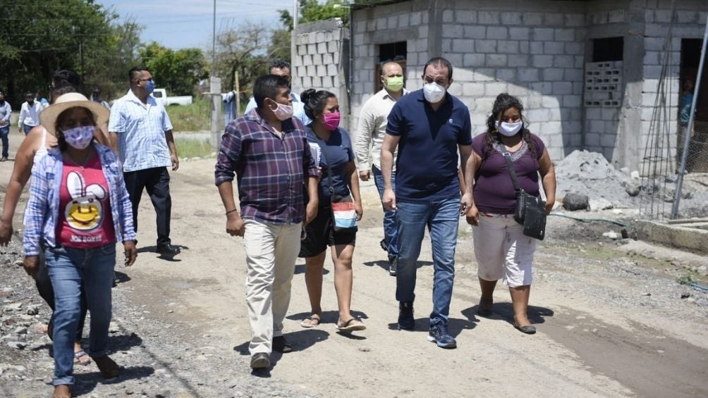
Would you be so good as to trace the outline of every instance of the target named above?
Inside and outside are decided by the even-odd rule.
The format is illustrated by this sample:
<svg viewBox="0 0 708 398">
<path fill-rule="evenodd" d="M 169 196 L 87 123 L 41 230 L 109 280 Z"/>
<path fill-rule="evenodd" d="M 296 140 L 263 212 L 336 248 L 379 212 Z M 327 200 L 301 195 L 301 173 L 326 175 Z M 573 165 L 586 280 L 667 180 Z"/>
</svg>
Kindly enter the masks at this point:
<svg viewBox="0 0 708 398">
<path fill-rule="evenodd" d="M 350 131 L 379 89 L 381 62 L 399 60 L 406 88 L 416 90 L 426 61 L 442 56 L 454 67 L 450 93 L 469 107 L 473 134 L 484 131 L 496 95 L 508 92 L 523 101 L 553 160 L 587 149 L 639 170 L 661 88 L 675 150 L 680 79 L 697 74 L 707 17 L 703 0 L 355 2 L 343 42 L 350 66 L 339 67 Z M 297 42 L 294 65 L 304 64 L 307 47 Z M 298 75 L 294 87 L 312 83 Z"/>
</svg>

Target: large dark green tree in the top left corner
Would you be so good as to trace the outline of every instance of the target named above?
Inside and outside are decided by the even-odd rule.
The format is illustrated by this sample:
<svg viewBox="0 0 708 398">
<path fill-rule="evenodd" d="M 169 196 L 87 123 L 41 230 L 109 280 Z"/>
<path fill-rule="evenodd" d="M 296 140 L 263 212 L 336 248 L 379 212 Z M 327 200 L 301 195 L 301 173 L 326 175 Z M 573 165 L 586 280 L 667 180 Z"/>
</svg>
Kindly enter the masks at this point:
<svg viewBox="0 0 708 398">
<path fill-rule="evenodd" d="M 21 102 L 25 90 L 46 95 L 55 70 L 105 74 L 115 62 L 117 18 L 90 0 L 4 1 L 0 6 L 0 87 Z"/>
</svg>

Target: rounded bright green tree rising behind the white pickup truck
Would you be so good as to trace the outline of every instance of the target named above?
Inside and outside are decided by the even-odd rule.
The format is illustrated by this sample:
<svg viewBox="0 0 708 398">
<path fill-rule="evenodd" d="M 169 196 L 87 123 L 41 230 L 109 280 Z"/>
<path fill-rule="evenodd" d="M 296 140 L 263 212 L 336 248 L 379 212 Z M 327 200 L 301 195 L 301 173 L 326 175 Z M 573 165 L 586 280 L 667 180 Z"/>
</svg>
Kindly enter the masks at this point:
<svg viewBox="0 0 708 398">
<path fill-rule="evenodd" d="M 138 50 L 142 64 L 152 73 L 157 87 L 167 88 L 169 95 L 192 95 L 194 86 L 207 78 L 206 60 L 197 48 L 174 51 L 151 42 Z"/>
</svg>

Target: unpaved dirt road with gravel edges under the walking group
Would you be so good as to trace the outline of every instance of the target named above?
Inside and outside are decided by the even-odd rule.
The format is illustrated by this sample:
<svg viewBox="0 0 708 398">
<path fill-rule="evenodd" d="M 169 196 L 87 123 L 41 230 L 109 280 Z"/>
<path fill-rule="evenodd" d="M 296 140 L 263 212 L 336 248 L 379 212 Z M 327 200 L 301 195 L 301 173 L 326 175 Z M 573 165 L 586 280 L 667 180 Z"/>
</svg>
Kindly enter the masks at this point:
<svg viewBox="0 0 708 398">
<path fill-rule="evenodd" d="M 395 328 L 395 279 L 384 269 L 386 255 L 378 244 L 382 211 L 369 183 L 362 185 L 365 214 L 355 250 L 352 305 L 367 329 L 336 331 L 329 259 L 324 322 L 314 329 L 299 327 L 309 314 L 299 260 L 285 321 L 295 351 L 274 354 L 269 373 L 251 375 L 244 250 L 241 238 L 224 232 L 213 165 L 213 159 L 188 161 L 172 174 L 173 243 L 182 247 L 176 261 L 151 252 L 154 211 L 147 197 L 142 201 L 140 254 L 134 267 L 118 269 L 122 283 L 114 289 L 111 344 L 127 371 L 118 381 L 101 384 L 94 381 L 95 370 L 79 370 L 85 373 L 79 378 L 89 380 L 79 392 L 101 397 L 708 396 L 708 298 L 675 281 L 678 264 L 706 261 L 702 257 L 632 240 L 619 245 L 601 237 L 612 229 L 608 226 L 551 218 L 549 238 L 537 252 L 530 301 L 539 332 L 527 336 L 510 324 L 510 298 L 501 283 L 494 316 L 474 315 L 479 285 L 472 233 L 461 224 L 450 309 L 458 348 L 444 350 L 426 339 L 433 275 L 428 241 L 418 269 L 416 330 Z M 8 180 L 10 166 L 0 163 L 0 181 Z M 1 272 L 21 271 L 8 265 Z M 682 299 L 685 293 L 690 297 Z M 5 395 L 50 391 L 42 381 L 50 380 L 51 362 L 43 346 L 35 346 L 18 351 L 2 342 L 0 366 L 28 368 L 20 376 L 0 373 Z"/>
</svg>

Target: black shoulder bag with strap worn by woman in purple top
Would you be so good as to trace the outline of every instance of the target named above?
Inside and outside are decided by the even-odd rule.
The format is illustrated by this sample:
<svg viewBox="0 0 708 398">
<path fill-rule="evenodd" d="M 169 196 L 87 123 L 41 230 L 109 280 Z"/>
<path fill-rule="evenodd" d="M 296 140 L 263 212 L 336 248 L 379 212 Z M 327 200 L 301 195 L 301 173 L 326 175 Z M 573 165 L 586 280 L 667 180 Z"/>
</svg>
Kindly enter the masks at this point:
<svg viewBox="0 0 708 398">
<path fill-rule="evenodd" d="M 514 163 L 511 161 L 511 153 L 504 148 L 503 144 L 500 147 L 516 191 L 514 220 L 524 226 L 524 235 L 543 240 L 546 235 L 546 202 L 540 197 L 527 194 L 521 188 L 516 177 Z"/>
</svg>

